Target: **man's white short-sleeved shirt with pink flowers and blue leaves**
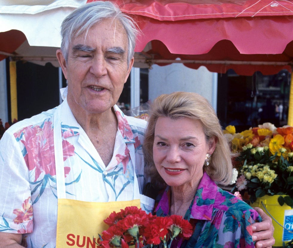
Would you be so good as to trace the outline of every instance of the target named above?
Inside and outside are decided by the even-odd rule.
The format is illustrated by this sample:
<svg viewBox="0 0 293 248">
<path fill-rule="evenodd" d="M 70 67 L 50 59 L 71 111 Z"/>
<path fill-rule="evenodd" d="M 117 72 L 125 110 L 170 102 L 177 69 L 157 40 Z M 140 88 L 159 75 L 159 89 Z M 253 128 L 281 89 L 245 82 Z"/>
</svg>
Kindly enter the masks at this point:
<svg viewBox="0 0 293 248">
<path fill-rule="evenodd" d="M 0 141 L 0 232 L 22 233 L 22 245 L 27 247 L 56 245 L 55 111 L 56 108 L 12 125 Z M 124 116 L 116 105 L 114 111 L 118 127 L 113 157 L 106 167 L 66 99 L 62 103 L 60 125 L 68 199 L 132 200 L 134 176 L 142 192 L 146 122 Z M 135 161 L 130 158 L 127 143 L 134 144 Z"/>
</svg>

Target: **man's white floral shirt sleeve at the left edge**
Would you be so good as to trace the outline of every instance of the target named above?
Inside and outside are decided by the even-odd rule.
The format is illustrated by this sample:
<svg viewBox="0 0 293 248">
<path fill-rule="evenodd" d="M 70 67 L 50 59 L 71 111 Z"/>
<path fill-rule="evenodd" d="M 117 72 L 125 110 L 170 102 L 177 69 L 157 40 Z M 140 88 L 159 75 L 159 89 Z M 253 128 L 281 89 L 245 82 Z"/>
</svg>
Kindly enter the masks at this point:
<svg viewBox="0 0 293 248">
<path fill-rule="evenodd" d="M 33 208 L 21 141 L 7 130 L 0 140 L 0 232 L 30 233 Z"/>
</svg>

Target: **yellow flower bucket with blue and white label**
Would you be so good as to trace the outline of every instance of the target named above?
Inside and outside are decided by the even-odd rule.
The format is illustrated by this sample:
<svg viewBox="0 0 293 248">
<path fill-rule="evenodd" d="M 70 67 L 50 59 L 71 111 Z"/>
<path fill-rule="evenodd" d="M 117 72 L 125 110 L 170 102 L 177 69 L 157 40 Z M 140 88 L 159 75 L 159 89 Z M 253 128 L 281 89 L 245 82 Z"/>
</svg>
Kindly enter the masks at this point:
<svg viewBox="0 0 293 248">
<path fill-rule="evenodd" d="M 252 207 L 259 207 L 263 209 L 266 214 L 271 215 L 275 229 L 274 246 L 282 247 L 283 242 L 288 243 L 293 238 L 293 209 L 286 203 L 281 206 L 278 202 L 279 196 L 280 195 L 265 195 L 263 197 L 257 198 L 256 201 L 251 205 Z M 285 197 L 285 195 L 283 195 L 283 197 Z M 280 225 L 282 225 L 284 228 L 277 222 L 280 223 Z"/>
</svg>

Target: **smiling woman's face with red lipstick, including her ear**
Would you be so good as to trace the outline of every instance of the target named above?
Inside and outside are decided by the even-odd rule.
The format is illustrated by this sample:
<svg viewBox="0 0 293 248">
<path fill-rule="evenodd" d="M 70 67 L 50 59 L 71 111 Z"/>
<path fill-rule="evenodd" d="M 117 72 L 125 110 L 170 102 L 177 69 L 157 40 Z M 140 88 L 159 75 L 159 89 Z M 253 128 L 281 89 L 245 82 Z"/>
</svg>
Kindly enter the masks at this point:
<svg viewBox="0 0 293 248">
<path fill-rule="evenodd" d="M 214 146 L 207 143 L 199 120 L 158 118 L 153 159 L 158 173 L 168 185 L 197 187 L 203 176 L 206 154 L 213 151 Z"/>
</svg>

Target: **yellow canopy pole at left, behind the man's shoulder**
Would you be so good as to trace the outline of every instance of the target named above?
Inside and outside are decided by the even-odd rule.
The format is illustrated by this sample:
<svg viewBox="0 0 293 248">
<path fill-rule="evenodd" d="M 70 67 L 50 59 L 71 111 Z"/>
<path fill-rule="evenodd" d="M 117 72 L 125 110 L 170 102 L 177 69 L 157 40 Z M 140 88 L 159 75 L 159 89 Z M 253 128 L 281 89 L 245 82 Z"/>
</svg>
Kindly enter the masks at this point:
<svg viewBox="0 0 293 248">
<path fill-rule="evenodd" d="M 10 103 L 11 103 L 11 122 L 18 120 L 17 116 L 17 86 L 16 86 L 16 61 L 9 62 L 10 73 Z"/>
</svg>

